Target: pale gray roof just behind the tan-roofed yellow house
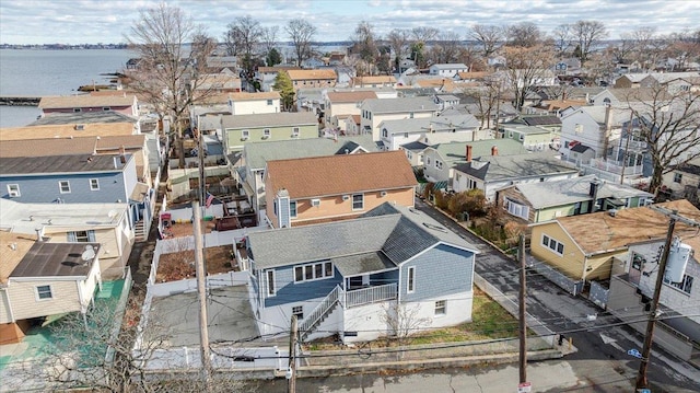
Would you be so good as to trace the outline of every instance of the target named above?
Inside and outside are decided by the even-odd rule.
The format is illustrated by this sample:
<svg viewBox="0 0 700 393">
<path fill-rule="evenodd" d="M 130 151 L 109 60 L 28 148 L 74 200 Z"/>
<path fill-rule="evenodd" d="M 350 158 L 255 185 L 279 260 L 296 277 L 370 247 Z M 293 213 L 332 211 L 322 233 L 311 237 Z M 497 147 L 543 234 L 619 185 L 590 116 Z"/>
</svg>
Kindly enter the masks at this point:
<svg viewBox="0 0 700 393">
<path fill-rule="evenodd" d="M 575 204 L 578 201 L 591 200 L 588 195 L 591 183 L 599 181 L 595 175 L 587 175 L 574 178 L 567 178 L 557 182 L 521 183 L 515 187 L 533 205 L 535 209 L 550 206 L 561 206 Z M 598 198 L 629 198 L 648 197 L 653 195 L 634 187 L 600 182 L 598 187 Z"/>
</svg>

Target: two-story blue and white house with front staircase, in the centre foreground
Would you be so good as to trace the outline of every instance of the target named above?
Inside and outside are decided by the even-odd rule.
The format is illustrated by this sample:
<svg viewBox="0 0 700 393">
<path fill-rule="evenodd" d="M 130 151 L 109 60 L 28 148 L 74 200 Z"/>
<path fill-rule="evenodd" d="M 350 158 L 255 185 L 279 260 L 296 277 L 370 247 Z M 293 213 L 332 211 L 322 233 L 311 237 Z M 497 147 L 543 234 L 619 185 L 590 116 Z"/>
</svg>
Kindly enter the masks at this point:
<svg viewBox="0 0 700 393">
<path fill-rule="evenodd" d="M 476 247 L 413 208 L 247 235 L 250 303 L 262 335 L 343 342 L 471 321 Z M 401 327 L 402 326 L 402 327 Z"/>
</svg>

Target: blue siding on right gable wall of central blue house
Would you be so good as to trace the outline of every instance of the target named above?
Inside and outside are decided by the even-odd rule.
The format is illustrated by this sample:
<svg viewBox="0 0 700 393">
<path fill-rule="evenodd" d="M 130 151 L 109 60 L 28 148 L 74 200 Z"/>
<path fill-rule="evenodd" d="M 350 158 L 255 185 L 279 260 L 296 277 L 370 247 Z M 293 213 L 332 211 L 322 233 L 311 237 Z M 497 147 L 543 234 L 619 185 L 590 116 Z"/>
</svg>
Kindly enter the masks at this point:
<svg viewBox="0 0 700 393">
<path fill-rule="evenodd" d="M 408 268 L 416 267 L 416 287 L 407 292 Z M 401 301 L 421 301 L 471 290 L 474 253 L 439 244 L 401 265 Z"/>
</svg>

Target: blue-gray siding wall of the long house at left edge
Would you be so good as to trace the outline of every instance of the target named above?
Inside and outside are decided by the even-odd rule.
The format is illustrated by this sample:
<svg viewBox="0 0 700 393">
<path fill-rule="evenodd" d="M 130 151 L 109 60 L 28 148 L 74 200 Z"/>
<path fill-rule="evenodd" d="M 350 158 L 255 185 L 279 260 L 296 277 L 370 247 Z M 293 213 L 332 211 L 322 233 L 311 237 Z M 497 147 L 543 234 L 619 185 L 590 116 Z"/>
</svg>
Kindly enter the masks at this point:
<svg viewBox="0 0 700 393">
<path fill-rule="evenodd" d="M 133 162 L 133 160 L 131 160 L 131 162 Z M 132 167 L 132 172 L 133 177 L 136 177 L 136 169 Z M 98 180 L 98 190 L 90 189 L 91 178 Z M 70 193 L 60 193 L 58 186 L 60 181 L 70 182 Z M 8 184 L 19 184 L 21 196 L 10 198 Z M 2 198 L 24 204 L 54 203 L 58 198 L 66 204 L 116 203 L 118 199 L 126 203 L 128 200 L 128 195 L 125 194 L 126 188 L 125 175 L 121 172 L 3 176 L 0 178 L 0 195 Z M 133 188 L 133 186 L 131 186 L 131 188 Z"/>
</svg>

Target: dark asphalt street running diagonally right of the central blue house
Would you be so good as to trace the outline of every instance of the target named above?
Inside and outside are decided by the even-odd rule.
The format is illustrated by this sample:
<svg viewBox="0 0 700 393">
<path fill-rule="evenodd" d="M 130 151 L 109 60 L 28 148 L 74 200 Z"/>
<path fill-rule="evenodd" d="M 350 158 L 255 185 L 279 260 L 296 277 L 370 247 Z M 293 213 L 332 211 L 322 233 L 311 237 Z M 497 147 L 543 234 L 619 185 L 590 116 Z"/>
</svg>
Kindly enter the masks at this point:
<svg viewBox="0 0 700 393">
<path fill-rule="evenodd" d="M 441 211 L 417 200 L 424 211 L 474 244 L 480 254 L 475 269 L 504 296 L 517 302 L 518 266 L 516 262 L 445 217 Z M 634 381 L 639 359 L 628 350 L 641 350 L 643 337 L 621 324 L 587 299 L 572 297 L 534 270 L 527 271 L 527 312 L 555 333 L 571 337 L 578 351 L 568 355 L 580 378 L 600 391 L 628 391 Z M 654 349 L 648 378 L 654 392 L 700 392 L 700 370 L 661 349 Z"/>
</svg>

